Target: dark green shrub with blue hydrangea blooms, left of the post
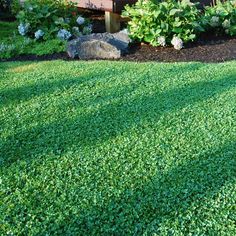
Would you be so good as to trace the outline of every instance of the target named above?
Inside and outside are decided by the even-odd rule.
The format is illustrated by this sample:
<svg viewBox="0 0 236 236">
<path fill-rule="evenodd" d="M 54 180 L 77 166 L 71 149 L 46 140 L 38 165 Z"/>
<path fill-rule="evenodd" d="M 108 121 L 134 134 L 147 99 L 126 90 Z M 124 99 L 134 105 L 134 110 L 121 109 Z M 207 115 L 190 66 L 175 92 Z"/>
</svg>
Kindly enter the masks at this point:
<svg viewBox="0 0 236 236">
<path fill-rule="evenodd" d="M 88 20 L 79 16 L 75 3 L 68 0 L 27 0 L 17 18 L 19 33 L 36 40 L 68 40 L 91 32 Z"/>
</svg>

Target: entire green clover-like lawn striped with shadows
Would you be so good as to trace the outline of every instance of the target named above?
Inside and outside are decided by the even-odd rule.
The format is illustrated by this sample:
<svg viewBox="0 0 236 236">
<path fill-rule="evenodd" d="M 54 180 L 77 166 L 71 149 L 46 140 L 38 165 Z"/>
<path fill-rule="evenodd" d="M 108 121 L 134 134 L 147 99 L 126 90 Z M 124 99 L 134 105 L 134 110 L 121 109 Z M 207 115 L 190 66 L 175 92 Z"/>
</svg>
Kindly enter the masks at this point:
<svg viewBox="0 0 236 236">
<path fill-rule="evenodd" d="M 235 61 L 0 74 L 0 235 L 236 235 Z"/>
</svg>

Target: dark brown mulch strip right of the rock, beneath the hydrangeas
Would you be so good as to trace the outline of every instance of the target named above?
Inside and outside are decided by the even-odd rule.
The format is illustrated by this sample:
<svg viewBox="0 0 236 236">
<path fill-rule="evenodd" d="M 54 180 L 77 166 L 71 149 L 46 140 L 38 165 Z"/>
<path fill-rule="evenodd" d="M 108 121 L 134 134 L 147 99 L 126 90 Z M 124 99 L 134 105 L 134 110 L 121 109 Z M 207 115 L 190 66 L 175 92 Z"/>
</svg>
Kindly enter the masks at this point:
<svg viewBox="0 0 236 236">
<path fill-rule="evenodd" d="M 122 60 L 128 61 L 201 61 L 224 62 L 236 59 L 236 38 L 212 37 L 189 43 L 181 50 L 173 47 L 152 47 L 147 44 L 132 45 L 130 53 Z"/>
</svg>

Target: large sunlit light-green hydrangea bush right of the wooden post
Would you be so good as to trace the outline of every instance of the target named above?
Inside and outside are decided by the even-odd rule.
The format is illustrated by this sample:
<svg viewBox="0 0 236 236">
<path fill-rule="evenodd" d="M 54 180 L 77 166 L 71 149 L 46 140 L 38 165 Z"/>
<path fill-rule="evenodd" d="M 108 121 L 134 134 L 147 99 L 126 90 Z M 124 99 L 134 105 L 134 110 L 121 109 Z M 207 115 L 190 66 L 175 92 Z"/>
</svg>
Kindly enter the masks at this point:
<svg viewBox="0 0 236 236">
<path fill-rule="evenodd" d="M 123 16 L 129 17 L 130 36 L 153 46 L 172 44 L 181 49 L 184 42 L 192 41 L 203 31 L 200 11 L 196 4 L 183 1 L 138 0 L 126 6 Z"/>
</svg>

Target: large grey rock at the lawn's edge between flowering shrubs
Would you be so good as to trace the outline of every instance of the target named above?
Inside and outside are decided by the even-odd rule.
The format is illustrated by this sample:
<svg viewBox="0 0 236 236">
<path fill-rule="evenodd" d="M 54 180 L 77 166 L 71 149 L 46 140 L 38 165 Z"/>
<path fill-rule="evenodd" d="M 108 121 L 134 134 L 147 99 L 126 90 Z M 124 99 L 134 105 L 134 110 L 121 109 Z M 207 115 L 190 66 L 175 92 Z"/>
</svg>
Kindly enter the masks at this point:
<svg viewBox="0 0 236 236">
<path fill-rule="evenodd" d="M 68 42 L 67 53 L 71 58 L 113 59 L 128 51 L 130 38 L 126 31 L 83 35 Z"/>
</svg>

